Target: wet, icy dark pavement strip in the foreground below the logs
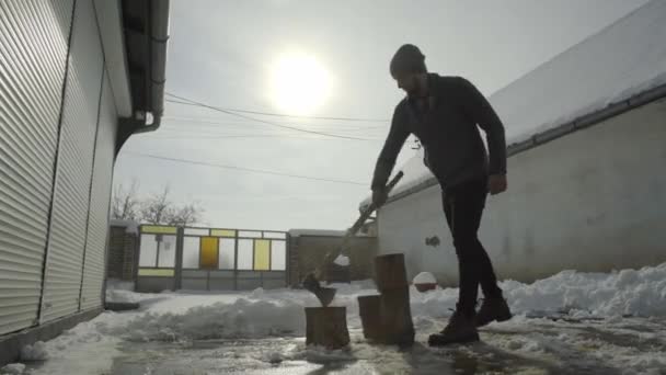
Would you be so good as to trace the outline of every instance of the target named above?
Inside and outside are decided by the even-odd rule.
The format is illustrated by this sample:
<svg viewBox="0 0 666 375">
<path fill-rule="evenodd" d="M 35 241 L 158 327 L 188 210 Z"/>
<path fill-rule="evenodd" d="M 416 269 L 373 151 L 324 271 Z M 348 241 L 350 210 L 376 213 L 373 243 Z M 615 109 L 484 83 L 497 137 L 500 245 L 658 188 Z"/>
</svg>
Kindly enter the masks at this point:
<svg viewBox="0 0 666 375">
<path fill-rule="evenodd" d="M 482 342 L 444 349 L 424 345 L 426 334 L 417 336 L 407 349 L 374 345 L 359 330 L 351 330 L 351 346 L 340 351 L 307 348 L 303 338 L 125 342 L 111 375 L 624 374 L 621 366 L 606 360 L 601 349 L 612 346 L 610 355 L 631 355 L 632 351 L 666 355 L 666 334 L 659 334 L 666 332 L 663 323 L 634 326 L 498 325 L 481 331 Z M 666 370 L 646 373 L 666 374 Z"/>
</svg>

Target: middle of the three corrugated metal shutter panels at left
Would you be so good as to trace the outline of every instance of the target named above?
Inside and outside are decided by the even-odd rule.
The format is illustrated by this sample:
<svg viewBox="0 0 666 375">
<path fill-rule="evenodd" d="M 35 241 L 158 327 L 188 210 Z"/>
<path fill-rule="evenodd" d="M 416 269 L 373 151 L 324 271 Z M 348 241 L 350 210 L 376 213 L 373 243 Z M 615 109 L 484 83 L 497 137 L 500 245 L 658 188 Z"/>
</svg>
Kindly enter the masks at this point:
<svg viewBox="0 0 666 375">
<path fill-rule="evenodd" d="M 41 321 L 79 309 L 103 58 L 92 0 L 76 7 Z"/>
</svg>

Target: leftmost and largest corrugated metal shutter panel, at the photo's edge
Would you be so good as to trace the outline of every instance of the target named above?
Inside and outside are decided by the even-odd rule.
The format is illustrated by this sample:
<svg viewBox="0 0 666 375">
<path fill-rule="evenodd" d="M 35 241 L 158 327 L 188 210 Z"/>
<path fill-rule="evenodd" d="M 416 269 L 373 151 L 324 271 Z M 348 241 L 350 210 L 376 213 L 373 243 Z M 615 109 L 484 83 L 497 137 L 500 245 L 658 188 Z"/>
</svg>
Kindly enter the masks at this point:
<svg viewBox="0 0 666 375">
<path fill-rule="evenodd" d="M 36 322 L 72 1 L 0 1 L 0 334 Z"/>
</svg>

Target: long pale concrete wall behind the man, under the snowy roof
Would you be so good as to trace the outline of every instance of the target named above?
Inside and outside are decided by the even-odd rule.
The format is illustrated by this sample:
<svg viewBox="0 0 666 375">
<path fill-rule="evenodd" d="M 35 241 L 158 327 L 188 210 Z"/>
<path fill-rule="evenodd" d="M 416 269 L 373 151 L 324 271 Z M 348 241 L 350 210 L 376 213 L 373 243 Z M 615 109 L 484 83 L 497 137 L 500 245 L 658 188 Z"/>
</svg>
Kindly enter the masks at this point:
<svg viewBox="0 0 666 375">
<path fill-rule="evenodd" d="M 665 262 L 666 102 L 510 157 L 508 184 L 489 197 L 480 231 L 501 279 Z M 425 245 L 432 236 L 438 247 Z M 380 253 L 404 252 L 411 277 L 429 271 L 457 284 L 451 242 L 439 186 L 379 213 Z"/>
</svg>

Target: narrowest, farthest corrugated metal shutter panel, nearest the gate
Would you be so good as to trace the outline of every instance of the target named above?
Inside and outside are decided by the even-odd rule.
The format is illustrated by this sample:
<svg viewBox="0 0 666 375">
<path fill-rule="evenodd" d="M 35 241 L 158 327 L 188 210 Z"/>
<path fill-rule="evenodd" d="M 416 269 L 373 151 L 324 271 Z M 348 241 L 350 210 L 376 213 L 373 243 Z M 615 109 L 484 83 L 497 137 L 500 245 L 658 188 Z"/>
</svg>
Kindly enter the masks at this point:
<svg viewBox="0 0 666 375">
<path fill-rule="evenodd" d="M 108 231 L 108 204 L 113 180 L 113 160 L 116 139 L 116 106 L 105 75 L 102 100 L 100 101 L 100 123 L 94 156 L 92 190 L 85 245 L 83 282 L 81 285 L 81 309 L 102 306 L 104 284 L 104 260 L 106 234 Z"/>
</svg>

